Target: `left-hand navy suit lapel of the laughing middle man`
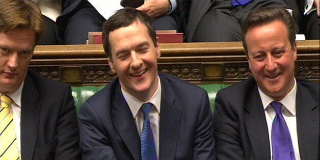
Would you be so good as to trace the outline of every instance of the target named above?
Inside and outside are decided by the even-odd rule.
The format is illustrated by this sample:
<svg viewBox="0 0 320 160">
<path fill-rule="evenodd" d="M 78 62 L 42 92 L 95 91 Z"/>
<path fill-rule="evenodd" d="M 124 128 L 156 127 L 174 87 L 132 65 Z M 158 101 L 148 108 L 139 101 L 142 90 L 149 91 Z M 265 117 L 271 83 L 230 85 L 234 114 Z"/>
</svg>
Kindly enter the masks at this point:
<svg viewBox="0 0 320 160">
<path fill-rule="evenodd" d="M 132 116 L 132 113 L 127 103 L 124 101 L 123 98 L 119 97 L 123 96 L 121 94 L 120 86 L 117 86 L 113 98 L 114 101 L 112 102 L 112 121 L 132 156 L 135 159 L 141 159 L 141 142 L 134 117 Z"/>
</svg>

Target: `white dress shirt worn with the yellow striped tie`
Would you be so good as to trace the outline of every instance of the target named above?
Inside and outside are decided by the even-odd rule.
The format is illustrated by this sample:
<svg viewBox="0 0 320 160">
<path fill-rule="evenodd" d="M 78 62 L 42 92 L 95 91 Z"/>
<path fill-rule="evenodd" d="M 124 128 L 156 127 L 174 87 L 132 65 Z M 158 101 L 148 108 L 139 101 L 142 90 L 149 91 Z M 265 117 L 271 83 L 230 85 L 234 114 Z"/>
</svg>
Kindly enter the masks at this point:
<svg viewBox="0 0 320 160">
<path fill-rule="evenodd" d="M 21 94 L 22 94 L 23 83 L 20 85 L 18 90 L 15 92 L 7 93 L 12 99 L 10 113 L 12 114 L 12 119 L 14 123 L 14 131 L 16 132 L 16 138 L 18 143 L 19 153 L 21 153 L 21 140 L 20 140 L 20 127 L 21 127 Z M 0 95 L 3 93 L 0 93 Z M 20 154 L 21 155 L 21 154 Z"/>
</svg>

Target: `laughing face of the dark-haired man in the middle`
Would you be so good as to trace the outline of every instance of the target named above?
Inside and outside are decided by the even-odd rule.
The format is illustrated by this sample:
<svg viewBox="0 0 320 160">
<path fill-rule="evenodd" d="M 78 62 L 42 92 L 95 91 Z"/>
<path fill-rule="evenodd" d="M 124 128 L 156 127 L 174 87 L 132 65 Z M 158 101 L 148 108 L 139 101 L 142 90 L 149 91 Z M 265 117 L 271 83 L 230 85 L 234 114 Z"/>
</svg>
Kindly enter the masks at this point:
<svg viewBox="0 0 320 160">
<path fill-rule="evenodd" d="M 130 95 L 145 101 L 158 86 L 157 59 L 159 46 L 152 43 L 147 28 L 140 21 L 109 34 L 111 69 L 117 73 L 121 87 Z"/>
</svg>

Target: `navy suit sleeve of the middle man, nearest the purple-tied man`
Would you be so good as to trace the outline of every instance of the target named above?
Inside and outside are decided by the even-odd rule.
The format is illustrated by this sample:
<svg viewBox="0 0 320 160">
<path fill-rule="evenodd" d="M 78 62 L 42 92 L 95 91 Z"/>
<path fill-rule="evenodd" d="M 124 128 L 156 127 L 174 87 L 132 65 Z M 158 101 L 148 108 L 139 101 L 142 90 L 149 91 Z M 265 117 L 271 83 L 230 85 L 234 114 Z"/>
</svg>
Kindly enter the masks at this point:
<svg viewBox="0 0 320 160">
<path fill-rule="evenodd" d="M 197 120 L 193 159 L 216 159 L 212 114 L 205 92 L 202 96 L 202 106 Z"/>
</svg>

